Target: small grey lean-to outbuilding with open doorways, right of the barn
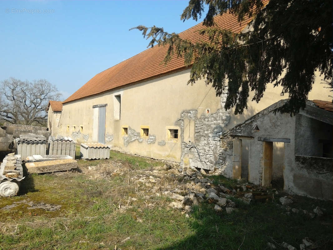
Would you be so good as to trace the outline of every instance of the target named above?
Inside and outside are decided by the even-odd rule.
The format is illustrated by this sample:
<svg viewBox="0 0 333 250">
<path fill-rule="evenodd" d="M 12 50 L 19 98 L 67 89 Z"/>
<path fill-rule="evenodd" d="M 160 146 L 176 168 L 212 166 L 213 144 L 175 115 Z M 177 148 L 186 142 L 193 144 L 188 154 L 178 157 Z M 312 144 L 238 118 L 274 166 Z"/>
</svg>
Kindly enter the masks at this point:
<svg viewBox="0 0 333 250">
<path fill-rule="evenodd" d="M 307 101 L 304 110 L 290 116 L 276 112 L 285 102 L 274 103 L 221 135 L 220 171 L 264 187 L 280 178 L 289 193 L 331 200 L 333 105 Z M 277 143 L 282 146 L 275 147 Z"/>
</svg>

